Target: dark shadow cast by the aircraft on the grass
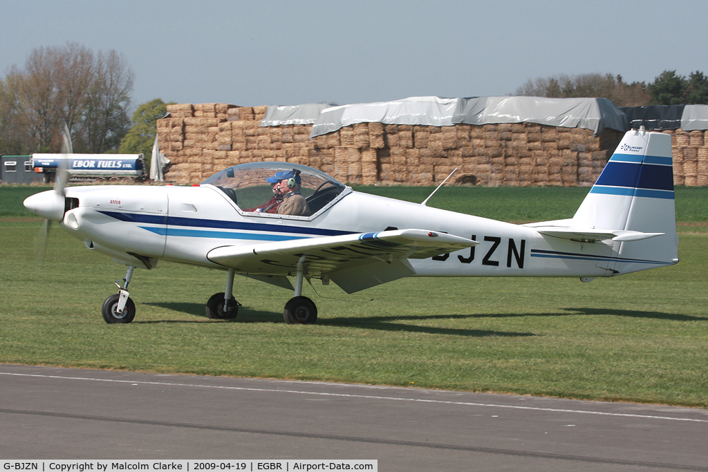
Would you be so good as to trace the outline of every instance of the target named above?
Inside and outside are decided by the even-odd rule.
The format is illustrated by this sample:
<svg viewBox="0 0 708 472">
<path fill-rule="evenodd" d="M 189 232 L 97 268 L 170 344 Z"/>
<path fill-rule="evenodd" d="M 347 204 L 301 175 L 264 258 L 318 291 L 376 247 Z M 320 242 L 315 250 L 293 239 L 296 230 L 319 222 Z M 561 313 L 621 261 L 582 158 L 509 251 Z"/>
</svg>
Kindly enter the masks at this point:
<svg viewBox="0 0 708 472">
<path fill-rule="evenodd" d="M 194 316 L 206 318 L 204 305 L 195 303 L 145 303 L 149 306 L 179 311 Z M 533 333 L 518 333 L 514 331 L 470 330 L 459 328 L 437 328 L 434 326 L 416 326 L 401 324 L 399 321 L 424 321 L 435 319 L 478 318 L 479 315 L 402 315 L 402 316 L 367 316 L 357 318 L 323 318 L 317 321 L 324 326 L 347 326 L 352 328 L 376 329 L 386 331 L 408 331 L 410 333 L 447 334 L 469 337 L 483 336 L 534 336 Z M 246 307 L 239 310 L 238 318 L 224 320 L 235 323 L 283 323 L 282 313 L 273 311 L 251 310 Z M 134 323 L 200 323 L 200 321 L 134 321 Z"/>
</svg>

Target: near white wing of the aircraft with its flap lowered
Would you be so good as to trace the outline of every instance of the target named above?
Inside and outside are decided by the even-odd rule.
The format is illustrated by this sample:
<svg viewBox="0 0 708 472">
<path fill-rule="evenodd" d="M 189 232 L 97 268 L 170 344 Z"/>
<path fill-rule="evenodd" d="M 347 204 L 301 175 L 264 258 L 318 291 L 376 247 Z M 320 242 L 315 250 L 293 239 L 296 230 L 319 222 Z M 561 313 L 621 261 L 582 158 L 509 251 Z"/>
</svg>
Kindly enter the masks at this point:
<svg viewBox="0 0 708 472">
<path fill-rule="evenodd" d="M 352 293 L 414 275 L 406 259 L 425 259 L 477 244 L 472 239 L 438 231 L 401 229 L 257 246 L 222 246 L 212 249 L 207 258 L 236 272 L 258 275 L 292 275 L 298 263 L 302 263 L 308 275 L 331 276 L 331 280 Z"/>
</svg>

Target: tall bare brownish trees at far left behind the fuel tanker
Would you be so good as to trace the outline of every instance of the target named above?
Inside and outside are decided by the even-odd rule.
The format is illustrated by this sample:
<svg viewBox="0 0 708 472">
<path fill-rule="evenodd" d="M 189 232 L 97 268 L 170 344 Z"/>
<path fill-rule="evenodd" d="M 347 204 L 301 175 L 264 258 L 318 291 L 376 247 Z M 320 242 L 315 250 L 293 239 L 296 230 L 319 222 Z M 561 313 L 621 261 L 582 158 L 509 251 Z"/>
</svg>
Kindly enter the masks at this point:
<svg viewBox="0 0 708 472">
<path fill-rule="evenodd" d="M 0 79 L 0 153 L 58 152 L 64 123 L 74 151 L 116 149 L 128 132 L 134 74 L 122 55 L 75 43 L 40 47 Z"/>
</svg>

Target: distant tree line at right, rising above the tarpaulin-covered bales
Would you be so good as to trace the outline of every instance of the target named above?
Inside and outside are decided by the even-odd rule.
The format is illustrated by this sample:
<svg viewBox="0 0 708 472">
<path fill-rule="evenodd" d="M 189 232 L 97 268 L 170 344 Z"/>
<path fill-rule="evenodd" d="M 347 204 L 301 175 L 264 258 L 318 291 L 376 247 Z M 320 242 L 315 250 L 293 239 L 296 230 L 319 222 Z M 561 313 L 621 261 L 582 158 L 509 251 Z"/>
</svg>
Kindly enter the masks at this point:
<svg viewBox="0 0 708 472">
<path fill-rule="evenodd" d="M 549 98 L 609 98 L 618 107 L 708 104 L 708 77 L 701 71 L 680 76 L 665 70 L 652 82 L 627 84 L 622 76 L 580 74 L 530 79 L 516 89 L 517 96 Z"/>
</svg>

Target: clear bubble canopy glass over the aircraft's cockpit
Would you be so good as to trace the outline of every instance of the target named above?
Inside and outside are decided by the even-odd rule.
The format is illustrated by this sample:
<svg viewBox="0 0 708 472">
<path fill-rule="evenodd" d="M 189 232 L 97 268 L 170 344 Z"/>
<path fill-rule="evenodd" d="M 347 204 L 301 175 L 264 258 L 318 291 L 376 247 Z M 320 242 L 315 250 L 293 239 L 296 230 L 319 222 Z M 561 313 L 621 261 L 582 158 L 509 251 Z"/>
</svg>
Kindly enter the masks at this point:
<svg viewBox="0 0 708 472">
<path fill-rule="evenodd" d="M 311 214 L 331 202 L 346 185 L 312 167 L 287 162 L 253 162 L 229 167 L 207 178 L 202 184 L 215 185 L 228 195 L 239 208 L 248 211 L 268 202 L 273 189 L 265 179 L 282 171 L 299 171 L 300 192 Z"/>
</svg>

